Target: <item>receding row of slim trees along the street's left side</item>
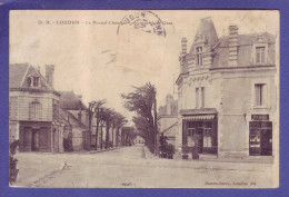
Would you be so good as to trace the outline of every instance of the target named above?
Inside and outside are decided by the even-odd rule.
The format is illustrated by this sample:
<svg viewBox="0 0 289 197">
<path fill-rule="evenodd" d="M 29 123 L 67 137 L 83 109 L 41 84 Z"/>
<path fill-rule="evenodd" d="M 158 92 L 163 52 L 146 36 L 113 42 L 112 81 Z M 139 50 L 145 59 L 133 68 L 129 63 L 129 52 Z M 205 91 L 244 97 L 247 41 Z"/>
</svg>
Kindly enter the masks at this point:
<svg viewBox="0 0 289 197">
<path fill-rule="evenodd" d="M 92 124 L 96 124 L 96 135 L 93 145 L 94 149 L 110 148 L 116 146 L 128 146 L 131 142 L 131 138 L 133 137 L 132 130 L 133 128 L 124 127 L 128 122 L 126 117 L 121 114 L 114 111 L 111 108 L 106 107 L 106 100 L 98 100 L 89 102 L 89 145 L 88 149 L 91 149 L 92 141 Z M 94 121 L 94 122 L 93 122 Z M 106 139 L 103 138 L 103 130 L 106 128 Z M 111 132 L 111 135 L 110 135 Z M 111 139 L 110 139 L 111 136 Z M 100 140 L 98 140 L 100 138 Z M 116 139 L 116 141 L 113 140 Z M 100 145 L 99 145 L 100 144 Z"/>
</svg>

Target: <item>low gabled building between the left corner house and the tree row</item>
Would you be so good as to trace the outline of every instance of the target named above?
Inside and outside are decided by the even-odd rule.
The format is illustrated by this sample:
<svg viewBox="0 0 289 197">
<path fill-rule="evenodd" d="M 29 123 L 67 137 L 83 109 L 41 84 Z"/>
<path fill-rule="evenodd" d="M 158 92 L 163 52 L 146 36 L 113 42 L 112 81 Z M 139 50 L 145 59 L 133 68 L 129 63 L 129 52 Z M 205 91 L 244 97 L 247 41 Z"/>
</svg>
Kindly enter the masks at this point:
<svg viewBox="0 0 289 197">
<path fill-rule="evenodd" d="M 61 118 L 71 126 L 73 150 L 84 148 L 82 134 L 88 130 L 88 109 L 81 98 L 73 91 L 60 91 Z"/>
</svg>

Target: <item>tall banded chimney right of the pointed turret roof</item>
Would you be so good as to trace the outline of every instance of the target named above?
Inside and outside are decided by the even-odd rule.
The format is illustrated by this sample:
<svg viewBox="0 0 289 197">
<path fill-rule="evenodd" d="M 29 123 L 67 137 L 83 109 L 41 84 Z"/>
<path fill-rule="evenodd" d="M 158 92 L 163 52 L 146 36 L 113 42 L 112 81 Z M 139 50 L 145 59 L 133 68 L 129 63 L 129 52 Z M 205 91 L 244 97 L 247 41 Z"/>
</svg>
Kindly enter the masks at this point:
<svg viewBox="0 0 289 197">
<path fill-rule="evenodd" d="M 229 66 L 238 65 L 238 26 L 229 26 Z"/>
</svg>

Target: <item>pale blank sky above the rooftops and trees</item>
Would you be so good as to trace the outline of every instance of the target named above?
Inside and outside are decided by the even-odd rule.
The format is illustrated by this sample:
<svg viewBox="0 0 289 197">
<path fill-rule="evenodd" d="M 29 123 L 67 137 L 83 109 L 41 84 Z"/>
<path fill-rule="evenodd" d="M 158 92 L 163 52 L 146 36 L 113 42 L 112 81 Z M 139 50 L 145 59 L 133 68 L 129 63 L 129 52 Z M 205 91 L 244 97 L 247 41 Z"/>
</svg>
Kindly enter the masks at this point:
<svg viewBox="0 0 289 197">
<path fill-rule="evenodd" d="M 177 99 L 181 38 L 188 50 L 202 18 L 211 17 L 218 37 L 237 24 L 239 33 L 268 31 L 279 35 L 278 11 L 213 10 L 12 10 L 10 11 L 10 63 L 54 65 L 54 89 L 82 95 L 82 100 L 107 99 L 107 107 L 131 118 L 121 93 L 151 82 L 158 107 L 167 93 Z M 144 29 L 137 19 L 143 19 Z M 130 24 L 119 24 L 130 20 Z M 161 35 L 153 32 L 161 20 Z M 148 32 L 150 31 L 150 32 Z M 166 31 L 166 36 L 163 32 Z"/>
</svg>

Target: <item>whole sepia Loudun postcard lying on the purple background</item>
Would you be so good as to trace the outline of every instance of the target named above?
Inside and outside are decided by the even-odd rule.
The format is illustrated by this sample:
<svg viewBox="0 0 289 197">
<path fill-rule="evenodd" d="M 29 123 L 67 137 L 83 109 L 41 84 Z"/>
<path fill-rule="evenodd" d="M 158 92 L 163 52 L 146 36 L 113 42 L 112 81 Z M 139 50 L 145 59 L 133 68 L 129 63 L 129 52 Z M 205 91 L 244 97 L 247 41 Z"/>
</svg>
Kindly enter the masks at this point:
<svg viewBox="0 0 289 197">
<path fill-rule="evenodd" d="M 9 184 L 279 187 L 279 12 L 11 10 Z"/>
</svg>

